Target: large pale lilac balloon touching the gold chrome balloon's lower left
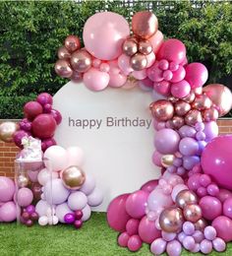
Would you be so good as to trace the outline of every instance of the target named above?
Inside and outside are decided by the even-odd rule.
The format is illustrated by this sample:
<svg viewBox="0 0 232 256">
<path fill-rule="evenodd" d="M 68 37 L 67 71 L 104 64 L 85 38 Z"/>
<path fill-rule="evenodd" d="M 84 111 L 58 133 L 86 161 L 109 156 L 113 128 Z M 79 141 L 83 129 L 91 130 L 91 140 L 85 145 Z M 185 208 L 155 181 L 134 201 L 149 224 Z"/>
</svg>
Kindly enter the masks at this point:
<svg viewBox="0 0 232 256">
<path fill-rule="evenodd" d="M 55 178 L 46 182 L 43 194 L 49 204 L 59 205 L 67 200 L 70 191 L 63 185 L 60 178 Z"/>
</svg>

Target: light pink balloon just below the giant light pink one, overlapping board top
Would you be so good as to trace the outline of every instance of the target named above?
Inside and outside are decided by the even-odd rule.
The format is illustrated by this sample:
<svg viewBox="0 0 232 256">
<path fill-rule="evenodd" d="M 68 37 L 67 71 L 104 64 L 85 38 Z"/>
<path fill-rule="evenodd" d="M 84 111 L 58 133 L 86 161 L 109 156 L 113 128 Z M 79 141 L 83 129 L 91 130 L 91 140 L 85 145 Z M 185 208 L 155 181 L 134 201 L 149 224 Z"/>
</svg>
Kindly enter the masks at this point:
<svg viewBox="0 0 232 256">
<path fill-rule="evenodd" d="M 92 91 L 104 90 L 109 84 L 109 79 L 108 73 L 94 68 L 90 68 L 83 77 L 84 84 Z"/>
</svg>

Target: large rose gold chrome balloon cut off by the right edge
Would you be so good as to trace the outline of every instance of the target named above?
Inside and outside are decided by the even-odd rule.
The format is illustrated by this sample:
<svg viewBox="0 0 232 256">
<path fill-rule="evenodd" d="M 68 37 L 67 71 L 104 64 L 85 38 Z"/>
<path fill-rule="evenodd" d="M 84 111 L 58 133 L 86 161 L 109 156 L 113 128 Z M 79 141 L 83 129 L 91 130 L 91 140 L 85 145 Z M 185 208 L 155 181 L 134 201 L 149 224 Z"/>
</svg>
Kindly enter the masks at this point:
<svg viewBox="0 0 232 256">
<path fill-rule="evenodd" d="M 216 106 L 219 116 L 223 116 L 230 111 L 232 107 L 232 94 L 227 87 L 219 84 L 211 84 L 203 88 L 203 93 Z"/>
</svg>

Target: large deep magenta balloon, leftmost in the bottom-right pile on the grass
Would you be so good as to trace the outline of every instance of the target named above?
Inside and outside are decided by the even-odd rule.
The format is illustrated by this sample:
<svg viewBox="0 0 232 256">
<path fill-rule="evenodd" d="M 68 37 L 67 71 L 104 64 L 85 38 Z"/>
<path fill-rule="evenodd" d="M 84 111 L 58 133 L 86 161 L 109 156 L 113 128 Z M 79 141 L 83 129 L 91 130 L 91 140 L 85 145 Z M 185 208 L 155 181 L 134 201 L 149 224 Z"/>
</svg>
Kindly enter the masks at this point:
<svg viewBox="0 0 232 256">
<path fill-rule="evenodd" d="M 130 194 L 123 194 L 110 202 L 107 209 L 107 222 L 111 228 L 123 232 L 126 224 L 131 219 L 126 211 L 126 201 Z"/>
</svg>

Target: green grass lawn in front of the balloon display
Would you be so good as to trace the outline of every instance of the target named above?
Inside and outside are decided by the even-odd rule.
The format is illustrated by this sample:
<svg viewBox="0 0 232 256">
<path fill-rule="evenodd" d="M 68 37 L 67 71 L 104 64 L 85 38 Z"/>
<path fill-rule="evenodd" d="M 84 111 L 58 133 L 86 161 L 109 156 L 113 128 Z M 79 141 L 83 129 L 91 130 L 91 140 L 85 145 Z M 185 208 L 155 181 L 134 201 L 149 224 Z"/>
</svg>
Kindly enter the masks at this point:
<svg viewBox="0 0 232 256">
<path fill-rule="evenodd" d="M 93 213 L 91 219 L 77 230 L 72 225 L 32 227 L 17 224 L 0 224 L 1 256 L 151 256 L 149 246 L 145 245 L 132 253 L 117 245 L 117 232 L 107 225 L 105 214 Z M 210 255 L 218 255 L 213 252 Z M 186 251 L 183 255 L 191 254 Z M 232 255 L 230 245 L 219 255 Z"/>
</svg>

